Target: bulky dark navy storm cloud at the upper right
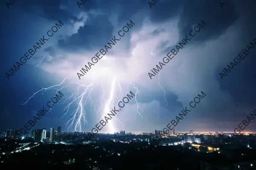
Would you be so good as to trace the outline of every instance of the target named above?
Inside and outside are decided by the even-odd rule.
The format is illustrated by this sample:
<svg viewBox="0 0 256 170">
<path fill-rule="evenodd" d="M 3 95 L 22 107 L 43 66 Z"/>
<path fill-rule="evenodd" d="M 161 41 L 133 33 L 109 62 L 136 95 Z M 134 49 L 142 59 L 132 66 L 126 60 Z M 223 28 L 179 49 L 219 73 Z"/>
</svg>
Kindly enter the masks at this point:
<svg viewBox="0 0 256 170">
<path fill-rule="evenodd" d="M 204 34 L 197 34 L 195 40 L 189 42 L 190 44 L 196 43 L 198 45 L 198 41 L 204 43 L 205 41 L 219 37 L 223 34 L 223 31 L 229 28 L 238 18 L 233 7 L 227 10 L 221 10 L 218 1 L 194 0 L 192 2 L 183 0 L 180 1 L 180 4 L 175 3 L 174 6 L 172 6 L 170 1 L 164 1 L 160 6 L 162 10 L 164 6 L 171 6 L 167 11 L 171 11 L 171 14 L 174 16 L 179 16 L 178 30 L 180 34 L 178 40 L 189 35 L 189 31 L 191 31 L 195 25 L 201 23 L 201 20 L 204 20 L 207 24 L 207 29 L 204 30 Z M 232 4 L 230 6 L 232 6 Z M 165 12 L 160 14 L 156 11 L 155 13 L 157 14 L 152 14 L 152 19 L 155 22 L 169 20 L 173 17 Z M 166 48 L 164 53 L 170 51 L 172 48 L 173 47 Z"/>
</svg>

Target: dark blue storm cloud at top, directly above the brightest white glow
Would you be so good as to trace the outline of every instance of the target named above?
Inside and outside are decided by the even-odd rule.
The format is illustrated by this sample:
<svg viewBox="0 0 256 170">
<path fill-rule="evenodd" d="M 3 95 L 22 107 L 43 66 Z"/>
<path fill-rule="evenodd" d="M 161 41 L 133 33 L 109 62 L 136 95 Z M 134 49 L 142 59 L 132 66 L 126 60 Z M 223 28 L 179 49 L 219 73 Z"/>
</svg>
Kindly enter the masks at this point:
<svg viewBox="0 0 256 170">
<path fill-rule="evenodd" d="M 103 44 L 111 40 L 113 35 L 117 34 L 117 32 L 113 33 L 114 28 L 109 21 L 111 14 L 118 14 L 117 24 L 120 29 L 122 28 L 122 24 L 126 24 L 129 20 L 133 20 L 136 24 L 135 29 L 139 29 L 145 15 L 139 19 L 137 17 L 132 18 L 132 16 L 143 10 L 143 8 L 146 8 L 145 3 L 139 1 L 126 2 L 115 0 L 111 3 L 103 3 L 102 1 L 88 2 L 81 7 L 81 11 L 88 12 L 89 10 L 95 10 L 102 11 L 104 14 L 95 16 L 93 12 L 87 13 L 88 20 L 85 26 L 80 27 L 78 33 L 73 34 L 70 38 L 59 40 L 58 46 L 70 51 L 78 50 L 78 48 L 83 50 L 98 50 Z M 100 38 L 96 39 L 96 37 Z M 126 35 L 126 38 L 128 38 L 128 35 Z"/>
</svg>

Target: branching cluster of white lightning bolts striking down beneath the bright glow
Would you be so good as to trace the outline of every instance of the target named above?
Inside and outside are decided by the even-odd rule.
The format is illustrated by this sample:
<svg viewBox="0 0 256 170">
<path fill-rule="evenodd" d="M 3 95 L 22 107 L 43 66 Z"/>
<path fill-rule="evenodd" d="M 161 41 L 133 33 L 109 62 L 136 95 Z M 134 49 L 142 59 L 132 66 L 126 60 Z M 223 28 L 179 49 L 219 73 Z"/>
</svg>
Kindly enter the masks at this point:
<svg viewBox="0 0 256 170">
<path fill-rule="evenodd" d="M 95 79 L 93 79 L 92 82 L 90 82 L 88 85 L 80 84 L 78 82 L 68 82 L 68 80 L 70 80 L 70 78 L 63 79 L 63 81 L 57 85 L 52 85 L 47 88 L 41 88 L 39 91 L 35 92 L 34 94 L 32 94 L 32 96 L 27 98 L 26 102 L 24 102 L 22 105 L 26 105 L 27 102 L 29 102 L 35 95 L 39 93 L 43 94 L 45 91 L 55 90 L 55 94 L 57 94 L 58 91 L 64 88 L 71 88 L 71 94 L 69 96 L 63 97 L 65 98 L 65 100 L 61 103 L 66 104 L 63 109 L 62 118 L 64 116 L 71 115 L 71 118 L 66 123 L 67 130 L 74 128 L 75 131 L 81 132 L 83 125 L 88 124 L 88 105 L 90 108 L 93 108 L 93 111 L 95 113 L 101 114 L 101 118 L 103 118 L 105 115 L 110 113 L 111 108 L 113 108 L 113 106 L 115 106 L 116 103 L 122 99 L 124 94 L 126 94 L 126 91 L 122 89 L 122 84 L 116 78 L 113 78 L 111 80 L 108 93 L 105 92 L 105 86 L 107 86 L 107 83 L 104 82 L 103 85 L 103 83 L 101 82 L 102 95 L 99 97 L 99 99 L 96 99 L 100 101 L 100 106 L 96 110 L 96 105 L 94 102 L 96 100 L 94 100 L 92 97 L 93 92 L 96 92 L 95 88 L 97 87 Z M 135 117 L 137 114 L 139 114 L 142 117 L 143 110 L 142 108 L 140 108 L 140 105 L 137 101 L 137 95 L 140 93 L 140 91 L 132 82 L 128 84 L 127 90 L 131 85 L 136 89 L 135 102 L 137 104 L 137 112 L 135 114 Z M 108 133 L 115 132 L 116 129 L 114 127 L 114 123 L 116 121 L 119 122 L 122 125 L 122 128 L 124 129 L 124 125 L 119 119 L 113 117 L 113 120 L 108 122 Z"/>
</svg>

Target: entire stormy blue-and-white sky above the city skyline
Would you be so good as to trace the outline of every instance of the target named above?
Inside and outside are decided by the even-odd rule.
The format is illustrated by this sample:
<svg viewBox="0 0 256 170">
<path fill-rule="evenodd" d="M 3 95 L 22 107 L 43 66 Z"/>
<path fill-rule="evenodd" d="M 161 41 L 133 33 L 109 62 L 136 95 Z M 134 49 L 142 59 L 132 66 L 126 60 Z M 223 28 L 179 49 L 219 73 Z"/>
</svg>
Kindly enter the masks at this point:
<svg viewBox="0 0 256 170">
<path fill-rule="evenodd" d="M 1 3 L 0 130 L 23 127 L 47 105 L 55 90 L 37 94 L 26 105 L 21 105 L 26 98 L 41 87 L 61 83 L 66 77 L 71 78 L 58 87 L 63 87 L 61 93 L 64 96 L 79 88 L 75 82 L 81 87 L 95 78 L 91 94 L 95 108 L 90 108 L 90 102 L 83 104 L 87 123 L 81 125 L 82 131 L 91 130 L 104 114 L 114 77 L 124 91 L 129 82 L 140 90 L 137 102 L 143 109 L 141 115 L 136 113 L 138 105 L 132 99 L 116 115 L 119 120 L 113 120 L 116 131 L 162 130 L 201 91 L 207 96 L 180 121 L 175 130 L 233 131 L 256 109 L 255 49 L 251 49 L 251 53 L 224 79 L 219 75 L 256 38 L 254 0 L 232 1 L 223 9 L 217 0 L 160 0 L 152 8 L 144 0 L 111 0 L 111 3 L 89 0 L 80 7 L 76 1 L 69 0 L 23 0 L 9 8 L 4 1 Z M 43 35 L 46 38 L 47 31 L 58 20 L 64 26 L 26 64 L 20 66 L 14 76 L 7 79 L 6 72 Z M 117 37 L 118 31 L 130 20 L 135 26 L 79 80 L 76 73 L 111 38 Z M 201 20 L 207 25 L 163 66 L 160 79 L 159 74 L 150 79 L 148 72 Z M 35 67 L 45 55 L 50 57 Z M 73 84 L 64 88 L 70 82 Z M 159 83 L 166 91 L 168 105 Z M 136 91 L 133 87 L 130 84 L 128 89 Z M 116 100 L 111 102 L 110 109 L 119 98 L 118 85 L 115 89 Z M 79 93 L 83 90 L 80 89 Z M 101 100 L 102 91 L 105 91 L 106 100 Z M 64 100 L 58 101 L 53 111 L 38 120 L 33 128 L 49 130 L 50 127 L 61 126 L 66 131 L 64 124 L 72 120 L 71 113 L 77 106 L 71 105 L 70 111 L 63 116 L 64 107 L 72 101 L 62 104 Z M 244 131 L 256 130 L 256 120 L 251 121 Z M 108 131 L 107 126 L 101 131 Z M 74 131 L 75 126 L 70 126 L 69 130 Z"/>
</svg>

